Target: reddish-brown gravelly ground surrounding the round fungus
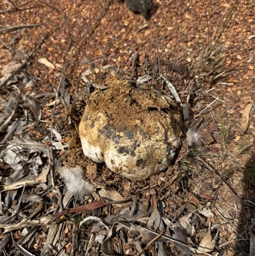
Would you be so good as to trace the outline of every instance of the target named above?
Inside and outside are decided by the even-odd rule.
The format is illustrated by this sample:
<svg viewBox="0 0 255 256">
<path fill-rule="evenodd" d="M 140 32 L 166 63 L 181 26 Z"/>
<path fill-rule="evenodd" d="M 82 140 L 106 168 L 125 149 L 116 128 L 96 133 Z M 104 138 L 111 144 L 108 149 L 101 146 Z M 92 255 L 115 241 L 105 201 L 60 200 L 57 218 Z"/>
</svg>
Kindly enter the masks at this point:
<svg viewBox="0 0 255 256">
<path fill-rule="evenodd" d="M 189 230 L 193 232 L 185 233 L 193 246 L 198 247 L 211 227 L 217 241 L 212 253 L 249 255 L 249 232 L 254 232 L 255 217 L 254 110 L 249 114 L 247 130 L 240 132 L 239 128 L 245 106 L 254 104 L 255 99 L 254 3 L 154 0 L 147 20 L 130 11 L 125 3 L 112 3 L 111 6 L 108 1 L 56 0 L 44 4 L 17 0 L 13 7 L 11 1 L 1 2 L 0 24 L 6 26 L 1 27 L 0 32 L 1 82 L 26 63 L 0 88 L 0 96 L 6 101 L 13 91 L 11 85 L 20 89 L 18 112 L 13 120 L 21 118 L 27 126 L 14 135 L 41 142 L 50 136 L 48 129 L 54 128 L 61 133 L 63 143 L 72 142 L 69 149 L 55 150 L 55 158 L 61 160 L 62 165 L 80 164 L 96 189 L 114 189 L 123 197 L 135 197 L 147 203 L 157 195 L 164 205 L 166 218 L 180 223 L 182 218 L 193 214 L 189 219 Z M 233 6 L 235 13 L 228 20 Z M 224 23 L 225 20 L 228 22 Z M 31 26 L 14 27 L 17 25 Z M 203 62 L 205 46 L 214 34 L 215 54 Z M 40 42 L 38 50 L 27 59 L 25 56 Z M 135 61 L 133 56 L 138 56 Z M 41 64 L 41 58 L 51 64 Z M 87 75 L 82 75 L 84 72 Z M 182 137 L 183 146 L 175 165 L 140 182 L 129 181 L 110 172 L 105 165 L 96 165 L 85 158 L 77 140 L 85 90 L 98 90 L 95 87 L 108 86 L 112 80 L 135 81 L 149 74 L 150 87 L 170 96 L 159 73 L 173 84 L 182 102 L 189 106 L 185 125 L 187 129 L 194 128 L 191 146 L 185 134 Z M 57 97 L 52 98 L 50 93 Z M 25 96 L 33 97 L 41 105 L 38 125 Z M 3 109 L 2 106 L 0 110 Z M 66 116 L 62 114 L 64 111 L 68 111 Z M 70 129 L 64 130 L 70 124 L 76 130 L 72 132 L 75 135 L 71 135 Z M 1 141 L 6 134 L 7 131 L 0 133 Z M 44 143 L 50 145 L 51 142 Z M 1 170 L 7 168 L 4 162 L 0 162 L 0 167 Z M 7 175 L 6 170 L 3 172 Z M 58 184 L 61 189 L 62 183 Z M 59 194 L 52 199 L 45 190 L 40 193 L 46 195 L 43 200 L 52 209 Z M 236 200 L 233 193 L 250 202 L 250 206 Z M 184 204 L 186 209 L 180 213 Z M 197 211 L 205 206 L 212 211 L 212 216 Z M 104 209 L 104 216 L 113 211 L 114 207 Z M 40 232 L 45 234 L 45 230 Z M 86 232 L 89 239 L 92 233 Z M 71 229 L 67 234 L 65 237 L 71 236 Z M 1 235 L 0 239 L 4 237 Z M 15 239 L 20 239 L 19 230 L 15 232 Z M 34 242 L 35 253 L 40 253 L 43 239 Z M 13 248 L 11 246 L 10 239 L 10 248 Z M 66 248 L 70 252 L 70 247 Z M 171 255 L 181 255 L 173 245 L 168 249 Z M 8 246 L 4 250 L 8 250 Z M 152 246 L 150 253 L 156 251 Z"/>
</svg>

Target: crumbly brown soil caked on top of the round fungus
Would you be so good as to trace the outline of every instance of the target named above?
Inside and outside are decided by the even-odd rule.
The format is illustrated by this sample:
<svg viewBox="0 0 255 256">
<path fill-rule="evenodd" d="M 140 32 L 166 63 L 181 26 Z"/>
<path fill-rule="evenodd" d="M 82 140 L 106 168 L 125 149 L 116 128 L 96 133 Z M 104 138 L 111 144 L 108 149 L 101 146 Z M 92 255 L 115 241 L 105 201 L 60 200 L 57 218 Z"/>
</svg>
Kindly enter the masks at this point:
<svg viewBox="0 0 255 256">
<path fill-rule="evenodd" d="M 115 130 L 135 130 L 139 120 L 145 133 L 153 133 L 152 120 L 164 120 L 167 116 L 173 123 L 175 136 L 179 136 L 182 129 L 180 107 L 163 96 L 156 96 L 149 84 L 141 87 L 134 82 L 109 82 L 108 89 L 89 96 L 87 112 L 105 112 L 108 124 Z"/>
</svg>

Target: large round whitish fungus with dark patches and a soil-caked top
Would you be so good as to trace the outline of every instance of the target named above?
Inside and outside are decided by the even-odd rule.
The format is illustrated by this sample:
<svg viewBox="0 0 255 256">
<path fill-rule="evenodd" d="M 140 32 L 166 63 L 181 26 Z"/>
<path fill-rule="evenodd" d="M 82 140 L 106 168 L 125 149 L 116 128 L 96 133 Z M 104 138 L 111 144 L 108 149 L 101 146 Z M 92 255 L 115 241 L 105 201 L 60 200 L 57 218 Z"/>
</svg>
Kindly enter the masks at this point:
<svg viewBox="0 0 255 256">
<path fill-rule="evenodd" d="M 79 133 L 85 156 L 142 180 L 174 162 L 181 129 L 178 105 L 149 87 L 112 81 L 89 95 Z"/>
</svg>

